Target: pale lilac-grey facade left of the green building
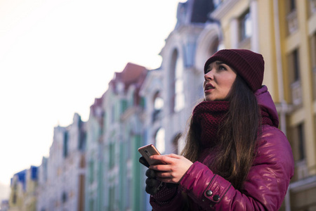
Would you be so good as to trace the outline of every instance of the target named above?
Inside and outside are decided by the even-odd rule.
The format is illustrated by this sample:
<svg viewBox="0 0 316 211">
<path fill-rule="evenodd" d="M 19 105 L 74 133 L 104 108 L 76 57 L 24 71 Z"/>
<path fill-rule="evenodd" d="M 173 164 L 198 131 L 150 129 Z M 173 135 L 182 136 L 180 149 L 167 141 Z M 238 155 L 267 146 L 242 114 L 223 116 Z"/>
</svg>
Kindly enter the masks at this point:
<svg viewBox="0 0 316 211">
<path fill-rule="evenodd" d="M 55 127 L 49 157 L 39 168 L 38 211 L 84 210 L 86 126 L 74 114 L 73 123 Z"/>
</svg>

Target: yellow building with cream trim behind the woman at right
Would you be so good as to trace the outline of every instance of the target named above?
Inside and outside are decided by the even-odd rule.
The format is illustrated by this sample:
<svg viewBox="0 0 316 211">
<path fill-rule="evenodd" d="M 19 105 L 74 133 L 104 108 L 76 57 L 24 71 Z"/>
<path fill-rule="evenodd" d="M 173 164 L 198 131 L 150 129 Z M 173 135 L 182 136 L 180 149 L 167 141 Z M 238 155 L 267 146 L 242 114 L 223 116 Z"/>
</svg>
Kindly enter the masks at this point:
<svg viewBox="0 0 316 211">
<path fill-rule="evenodd" d="M 225 49 L 265 58 L 265 79 L 296 163 L 281 210 L 316 210 L 316 0 L 213 1 Z"/>
</svg>

